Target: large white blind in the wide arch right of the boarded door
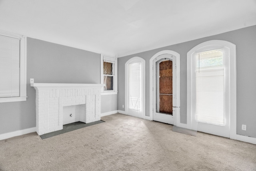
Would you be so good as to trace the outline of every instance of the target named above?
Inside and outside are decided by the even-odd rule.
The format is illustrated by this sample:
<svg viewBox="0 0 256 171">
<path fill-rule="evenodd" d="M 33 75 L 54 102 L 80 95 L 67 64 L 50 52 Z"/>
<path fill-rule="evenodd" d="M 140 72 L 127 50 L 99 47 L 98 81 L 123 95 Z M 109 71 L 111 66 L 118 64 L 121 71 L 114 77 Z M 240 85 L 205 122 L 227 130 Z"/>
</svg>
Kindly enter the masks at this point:
<svg viewBox="0 0 256 171">
<path fill-rule="evenodd" d="M 196 121 L 225 125 L 223 53 L 196 54 Z"/>
</svg>

